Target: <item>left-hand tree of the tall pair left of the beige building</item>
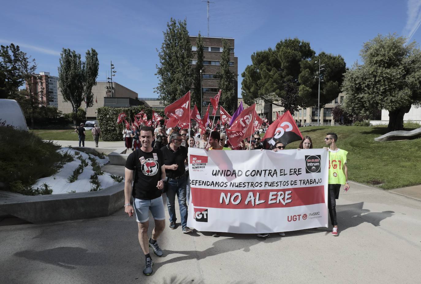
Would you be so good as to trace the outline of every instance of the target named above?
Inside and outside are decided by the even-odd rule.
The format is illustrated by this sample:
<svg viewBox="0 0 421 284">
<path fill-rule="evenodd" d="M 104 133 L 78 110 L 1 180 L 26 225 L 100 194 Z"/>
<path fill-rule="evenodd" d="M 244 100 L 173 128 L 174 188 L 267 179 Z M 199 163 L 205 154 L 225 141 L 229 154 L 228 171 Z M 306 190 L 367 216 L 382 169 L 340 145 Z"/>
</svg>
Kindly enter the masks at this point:
<svg viewBox="0 0 421 284">
<path fill-rule="evenodd" d="M 59 62 L 59 88 L 63 94 L 63 100 L 72 104 L 73 123 L 76 124 L 77 109 L 80 108 L 84 99 L 82 60 L 76 51 L 63 49 Z"/>
</svg>

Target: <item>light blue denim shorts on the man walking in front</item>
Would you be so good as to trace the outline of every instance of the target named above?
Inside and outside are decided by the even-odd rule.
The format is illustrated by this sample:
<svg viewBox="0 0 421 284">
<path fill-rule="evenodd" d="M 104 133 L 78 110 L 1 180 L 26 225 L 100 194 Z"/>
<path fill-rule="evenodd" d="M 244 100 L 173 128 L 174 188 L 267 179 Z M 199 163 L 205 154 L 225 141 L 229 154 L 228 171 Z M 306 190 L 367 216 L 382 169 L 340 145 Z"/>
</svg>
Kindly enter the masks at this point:
<svg viewBox="0 0 421 284">
<path fill-rule="evenodd" d="M 136 221 L 143 223 L 149 220 L 149 210 L 155 220 L 165 220 L 164 202 L 162 196 L 147 200 L 133 197 L 133 207 L 136 214 Z"/>
</svg>

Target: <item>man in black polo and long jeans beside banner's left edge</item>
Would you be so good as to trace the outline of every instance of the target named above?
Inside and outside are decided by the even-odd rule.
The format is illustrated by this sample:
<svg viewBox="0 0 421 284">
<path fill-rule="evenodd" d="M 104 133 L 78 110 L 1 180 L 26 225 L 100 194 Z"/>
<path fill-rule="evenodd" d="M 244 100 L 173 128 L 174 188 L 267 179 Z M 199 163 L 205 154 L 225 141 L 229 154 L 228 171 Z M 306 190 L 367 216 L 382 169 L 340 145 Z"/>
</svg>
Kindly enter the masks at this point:
<svg viewBox="0 0 421 284">
<path fill-rule="evenodd" d="M 178 132 L 171 133 L 168 138 L 169 144 L 161 148 L 165 173 L 168 177 L 167 207 L 170 214 L 170 229 L 176 228 L 176 195 L 179 200 L 181 228 L 183 233 L 191 233 L 192 229 L 187 227 L 187 203 L 186 203 L 186 187 L 187 176 L 184 162 L 187 162 L 187 148 L 181 146 L 181 134 Z"/>
</svg>

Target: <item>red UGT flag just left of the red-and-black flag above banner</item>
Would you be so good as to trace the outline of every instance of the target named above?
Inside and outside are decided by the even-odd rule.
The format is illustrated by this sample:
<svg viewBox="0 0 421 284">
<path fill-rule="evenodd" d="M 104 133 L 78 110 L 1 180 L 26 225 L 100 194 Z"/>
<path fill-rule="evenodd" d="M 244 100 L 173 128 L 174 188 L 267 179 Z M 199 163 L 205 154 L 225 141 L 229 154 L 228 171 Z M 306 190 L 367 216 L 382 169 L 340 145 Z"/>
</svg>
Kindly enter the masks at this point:
<svg viewBox="0 0 421 284">
<path fill-rule="evenodd" d="M 261 123 L 260 117 L 256 116 L 256 104 L 253 104 L 235 118 L 231 127 L 226 130 L 226 136 L 232 146 L 237 147 L 241 140 L 254 133 L 256 126 Z"/>
</svg>

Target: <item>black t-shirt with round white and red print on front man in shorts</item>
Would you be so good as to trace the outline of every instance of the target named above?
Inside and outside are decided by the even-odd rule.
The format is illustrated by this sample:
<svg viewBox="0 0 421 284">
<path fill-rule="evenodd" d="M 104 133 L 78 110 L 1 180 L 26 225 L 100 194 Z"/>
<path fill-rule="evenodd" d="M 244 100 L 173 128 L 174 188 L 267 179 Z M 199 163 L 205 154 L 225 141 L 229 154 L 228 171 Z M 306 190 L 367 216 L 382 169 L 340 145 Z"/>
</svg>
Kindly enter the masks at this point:
<svg viewBox="0 0 421 284">
<path fill-rule="evenodd" d="M 137 149 L 127 157 L 125 167 L 136 171 L 136 177 L 133 173 L 133 197 L 152 200 L 162 195 L 162 191 L 157 188 L 162 165 L 164 158 L 159 149 L 152 149 L 149 153 Z"/>
</svg>

